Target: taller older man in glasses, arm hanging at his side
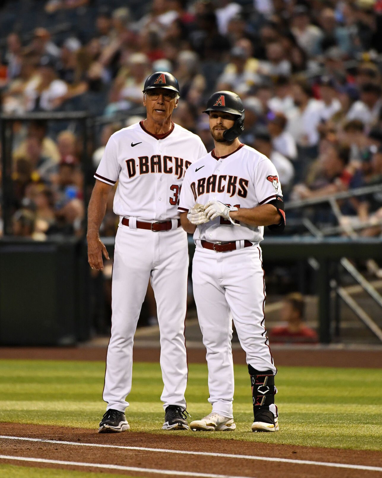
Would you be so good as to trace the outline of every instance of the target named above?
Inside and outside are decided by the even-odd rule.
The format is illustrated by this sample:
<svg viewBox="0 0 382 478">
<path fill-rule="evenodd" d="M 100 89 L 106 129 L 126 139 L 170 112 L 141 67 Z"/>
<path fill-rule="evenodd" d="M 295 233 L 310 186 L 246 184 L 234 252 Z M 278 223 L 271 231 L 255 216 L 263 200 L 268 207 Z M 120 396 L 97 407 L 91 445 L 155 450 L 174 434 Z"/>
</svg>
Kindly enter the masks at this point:
<svg viewBox="0 0 382 478">
<path fill-rule="evenodd" d="M 133 337 L 149 280 L 160 329 L 161 400 L 165 409 L 162 428 L 189 428 L 184 415 L 188 244 L 177 208 L 184 174 L 206 149 L 198 136 L 171 121 L 178 98 L 179 85 L 174 76 L 166 72 L 150 75 L 143 90 L 147 119 L 110 137 L 95 174 L 87 231 L 92 268 L 103 270 L 102 253 L 109 258 L 98 230 L 107 196 L 117 181 L 113 209 L 119 216 L 103 391 L 107 407 L 99 433 L 129 429 L 125 409 L 131 390 Z"/>
</svg>

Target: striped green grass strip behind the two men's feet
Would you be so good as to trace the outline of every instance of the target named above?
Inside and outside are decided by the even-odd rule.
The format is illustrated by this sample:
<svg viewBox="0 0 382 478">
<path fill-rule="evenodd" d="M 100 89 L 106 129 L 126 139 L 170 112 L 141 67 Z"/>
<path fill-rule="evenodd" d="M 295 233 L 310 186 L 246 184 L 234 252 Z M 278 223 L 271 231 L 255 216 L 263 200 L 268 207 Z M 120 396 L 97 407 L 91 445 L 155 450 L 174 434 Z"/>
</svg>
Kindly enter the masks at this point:
<svg viewBox="0 0 382 478">
<path fill-rule="evenodd" d="M 105 411 L 101 398 L 104 370 L 103 362 L 0 360 L 0 421 L 95 429 Z M 276 385 L 279 432 L 251 432 L 253 415 L 248 371 L 245 366 L 235 366 L 236 431 L 199 432 L 195 436 L 382 449 L 380 370 L 280 367 Z M 159 364 L 134 364 L 133 390 L 127 409 L 132 431 L 169 433 L 161 430 L 162 386 Z M 192 418 L 201 418 L 211 411 L 207 397 L 206 365 L 190 364 L 186 398 Z"/>
</svg>

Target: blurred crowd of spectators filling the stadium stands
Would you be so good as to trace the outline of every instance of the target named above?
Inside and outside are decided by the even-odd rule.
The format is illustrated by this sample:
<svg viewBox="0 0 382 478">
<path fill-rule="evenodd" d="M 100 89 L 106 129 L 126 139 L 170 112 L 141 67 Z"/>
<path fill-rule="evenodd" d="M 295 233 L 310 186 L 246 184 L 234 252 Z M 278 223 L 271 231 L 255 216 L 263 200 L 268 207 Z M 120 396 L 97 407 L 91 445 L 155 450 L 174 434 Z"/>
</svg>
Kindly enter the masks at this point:
<svg viewBox="0 0 382 478">
<path fill-rule="evenodd" d="M 110 135 L 144 117 L 144 80 L 162 70 L 180 83 L 174 121 L 208 151 L 206 98 L 241 96 L 240 139 L 275 163 L 286 200 L 382 185 L 381 0 L 12 0 L 0 31 L 2 112 L 95 115 L 94 170 Z M 82 236 L 78 125 L 17 121 L 12 154 L 13 235 Z M 381 233 L 382 186 L 338 204 L 343 225 Z M 327 206 L 313 218 L 336 224 Z"/>
</svg>

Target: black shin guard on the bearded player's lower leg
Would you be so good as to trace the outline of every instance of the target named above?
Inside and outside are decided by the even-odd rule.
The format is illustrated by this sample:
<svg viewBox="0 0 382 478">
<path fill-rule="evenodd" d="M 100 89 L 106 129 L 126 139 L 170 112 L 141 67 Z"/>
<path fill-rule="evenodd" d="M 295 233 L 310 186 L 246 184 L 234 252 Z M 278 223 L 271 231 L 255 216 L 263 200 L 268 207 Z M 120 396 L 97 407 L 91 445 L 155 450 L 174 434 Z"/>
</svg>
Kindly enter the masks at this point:
<svg viewBox="0 0 382 478">
<path fill-rule="evenodd" d="M 275 403 L 275 376 L 272 370 L 260 372 L 251 365 L 248 365 L 248 371 L 251 376 L 252 400 L 256 420 L 256 415 L 268 411 L 269 405 Z"/>
</svg>

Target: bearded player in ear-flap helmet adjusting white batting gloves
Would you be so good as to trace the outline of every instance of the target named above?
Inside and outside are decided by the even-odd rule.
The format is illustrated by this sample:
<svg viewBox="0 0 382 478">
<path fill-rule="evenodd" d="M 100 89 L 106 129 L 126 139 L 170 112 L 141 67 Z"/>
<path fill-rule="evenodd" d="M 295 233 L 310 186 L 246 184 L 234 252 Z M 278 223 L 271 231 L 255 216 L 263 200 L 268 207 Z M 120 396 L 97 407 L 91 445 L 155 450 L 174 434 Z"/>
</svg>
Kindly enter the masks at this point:
<svg viewBox="0 0 382 478">
<path fill-rule="evenodd" d="M 284 203 L 275 166 L 242 144 L 241 99 L 218 91 L 207 102 L 215 148 L 187 170 L 180 221 L 194 232 L 192 282 L 207 349 L 212 413 L 191 430 L 234 430 L 232 320 L 251 377 L 254 432 L 278 430 L 276 367 L 264 326 L 265 282 L 259 246 L 264 226 L 283 229 Z"/>
</svg>

